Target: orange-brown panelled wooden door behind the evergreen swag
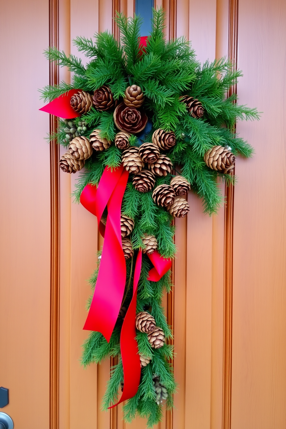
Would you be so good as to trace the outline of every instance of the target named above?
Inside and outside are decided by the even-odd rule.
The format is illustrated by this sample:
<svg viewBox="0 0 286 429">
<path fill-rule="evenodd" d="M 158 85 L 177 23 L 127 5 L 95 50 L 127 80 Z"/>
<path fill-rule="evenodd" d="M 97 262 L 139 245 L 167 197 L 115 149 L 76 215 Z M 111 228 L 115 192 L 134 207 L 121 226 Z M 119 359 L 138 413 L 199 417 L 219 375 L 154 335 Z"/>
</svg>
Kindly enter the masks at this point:
<svg viewBox="0 0 286 429">
<path fill-rule="evenodd" d="M 263 112 L 237 131 L 256 150 L 239 158 L 238 184 L 216 217 L 190 193 L 176 220 L 175 287 L 165 297 L 174 327 L 175 410 L 157 429 L 286 427 L 285 18 L 283 0 L 157 0 L 166 36 L 192 40 L 198 58 L 236 58 L 240 103 Z M 58 171 L 45 143 L 49 118 L 37 88 L 48 83 L 49 41 L 108 29 L 133 0 L 10 0 L 1 4 L 0 411 L 17 429 L 125 429 L 118 407 L 100 411 L 112 362 L 83 369 L 86 279 L 102 245 L 96 220 L 70 193 L 75 177 Z M 284 25 L 283 25 L 284 24 Z M 70 76 L 50 69 L 51 82 Z M 51 122 L 51 129 L 55 126 Z"/>
</svg>

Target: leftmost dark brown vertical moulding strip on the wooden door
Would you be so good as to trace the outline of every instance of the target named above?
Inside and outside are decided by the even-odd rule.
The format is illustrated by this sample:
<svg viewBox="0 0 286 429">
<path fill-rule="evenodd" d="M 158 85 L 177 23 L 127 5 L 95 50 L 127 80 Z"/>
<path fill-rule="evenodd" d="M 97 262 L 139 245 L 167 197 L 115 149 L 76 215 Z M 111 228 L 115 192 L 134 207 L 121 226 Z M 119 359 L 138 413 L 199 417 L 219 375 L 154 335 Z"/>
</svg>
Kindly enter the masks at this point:
<svg viewBox="0 0 286 429">
<path fill-rule="evenodd" d="M 49 0 L 49 46 L 59 47 L 59 3 Z M 50 63 L 50 85 L 57 85 L 59 67 Z M 58 118 L 50 115 L 50 133 L 58 128 Z M 50 143 L 51 174 L 51 295 L 50 295 L 50 429 L 59 427 L 59 349 L 60 349 L 60 175 L 59 145 Z"/>
</svg>

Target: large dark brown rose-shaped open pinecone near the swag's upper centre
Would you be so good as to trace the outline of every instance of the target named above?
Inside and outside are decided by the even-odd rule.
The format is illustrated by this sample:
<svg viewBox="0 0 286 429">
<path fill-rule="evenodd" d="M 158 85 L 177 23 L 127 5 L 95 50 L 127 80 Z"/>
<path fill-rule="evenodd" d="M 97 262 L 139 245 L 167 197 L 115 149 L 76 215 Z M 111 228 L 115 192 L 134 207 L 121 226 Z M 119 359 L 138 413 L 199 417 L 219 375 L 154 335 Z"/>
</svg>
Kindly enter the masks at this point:
<svg viewBox="0 0 286 429">
<path fill-rule="evenodd" d="M 113 118 L 118 130 L 131 134 L 144 130 L 148 121 L 144 112 L 134 107 L 126 107 L 124 103 L 120 103 L 114 110 Z"/>
</svg>

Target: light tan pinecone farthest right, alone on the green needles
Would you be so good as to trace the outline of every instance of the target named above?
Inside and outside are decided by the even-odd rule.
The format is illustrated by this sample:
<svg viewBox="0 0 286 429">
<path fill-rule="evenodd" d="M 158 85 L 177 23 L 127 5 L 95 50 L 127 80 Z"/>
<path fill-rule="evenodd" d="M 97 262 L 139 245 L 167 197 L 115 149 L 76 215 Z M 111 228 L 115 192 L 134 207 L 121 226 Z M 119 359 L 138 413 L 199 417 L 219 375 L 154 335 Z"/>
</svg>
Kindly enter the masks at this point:
<svg viewBox="0 0 286 429">
<path fill-rule="evenodd" d="M 223 146 L 214 146 L 204 155 L 205 163 L 213 170 L 223 174 L 231 173 L 235 166 L 235 156 Z"/>
</svg>

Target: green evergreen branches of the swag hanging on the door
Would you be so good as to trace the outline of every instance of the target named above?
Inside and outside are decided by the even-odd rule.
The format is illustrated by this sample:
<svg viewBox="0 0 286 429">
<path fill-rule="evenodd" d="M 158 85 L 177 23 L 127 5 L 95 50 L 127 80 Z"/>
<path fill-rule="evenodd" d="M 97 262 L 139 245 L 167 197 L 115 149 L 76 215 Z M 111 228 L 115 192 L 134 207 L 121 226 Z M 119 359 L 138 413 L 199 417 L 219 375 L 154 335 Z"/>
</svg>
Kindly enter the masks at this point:
<svg viewBox="0 0 286 429">
<path fill-rule="evenodd" d="M 42 98 L 51 101 L 70 89 L 81 88 L 83 91 L 73 97 L 72 101 L 72 107 L 78 108 L 78 112 L 83 112 L 83 114 L 73 120 L 60 121 L 58 132 L 51 136 L 51 139 L 56 138 L 66 148 L 69 147 L 71 141 L 73 142 L 70 154 L 68 153 L 66 159 L 62 161 L 64 171 L 72 171 L 71 162 L 76 164 L 75 169 L 80 169 L 85 162 L 85 171 L 80 173 L 74 192 L 76 201 L 79 201 L 81 191 L 86 184 L 98 184 L 105 166 L 120 165 L 122 155 L 120 144 L 121 148 L 126 147 L 124 154 L 133 148 L 130 153 L 124 155 L 124 159 L 131 163 L 136 157 L 138 160 L 139 155 L 136 148 L 146 142 L 146 148 L 142 148 L 140 152 L 142 157 L 145 156 L 146 159 L 153 157 L 154 161 L 160 153 L 159 146 L 161 153 L 164 150 L 164 154 L 160 155 L 158 159 L 161 162 L 158 164 L 159 167 L 162 166 L 162 163 L 163 165 L 165 162 L 168 164 L 168 159 L 170 159 L 177 169 L 181 169 L 181 178 L 175 181 L 176 186 L 173 188 L 167 185 L 170 185 L 174 175 L 168 173 L 154 177 L 151 174 L 151 172 L 158 171 L 156 163 L 149 164 L 149 166 L 154 166 L 153 169 L 150 168 L 151 172 L 145 166 L 138 177 L 129 175 L 129 183 L 122 205 L 123 216 L 135 221 L 129 236 L 133 250 L 138 248 L 146 250 L 143 241 L 146 243 L 148 236 L 151 236 L 154 239 L 156 237 L 160 254 L 164 257 L 174 257 L 174 227 L 171 224 L 172 216 L 167 210 L 168 207 L 164 206 L 166 198 L 174 199 L 173 189 L 175 189 L 178 197 L 176 197 L 177 202 L 172 205 L 172 207 L 175 206 L 172 213 L 178 215 L 182 211 L 180 211 L 180 207 L 177 210 L 177 205 L 181 204 L 181 199 L 191 185 L 193 191 L 202 198 L 205 212 L 210 215 L 216 213 L 217 208 L 223 202 L 217 179 L 224 180 L 226 183 L 233 183 L 235 179 L 232 174 L 227 173 L 231 169 L 216 171 L 216 162 L 214 162 L 216 157 L 213 159 L 213 156 L 217 153 L 217 162 L 220 161 L 220 157 L 224 156 L 221 160 L 223 167 L 231 157 L 232 160 L 235 159 L 233 155 L 241 154 L 244 157 L 250 157 L 253 149 L 242 138 L 235 135 L 235 121 L 238 118 L 257 119 L 259 116 L 256 109 L 239 106 L 236 103 L 236 94 L 227 99 L 225 97 L 228 89 L 237 82 L 238 77 L 242 76 L 240 71 L 234 69 L 233 63 L 221 59 L 215 60 L 213 63 L 207 61 L 201 66 L 196 60 L 190 42 L 183 37 L 165 41 L 163 10 L 154 10 L 153 13 L 152 32 L 148 37 L 147 46 L 143 50 L 139 47 L 140 18 L 135 16 L 133 19 L 127 20 L 122 14 L 118 14 L 115 18 L 120 29 L 122 45 L 107 31 L 96 34 L 94 43 L 92 39 L 84 37 L 77 37 L 74 40 L 78 50 L 91 59 L 86 66 L 73 55 L 66 57 L 56 48 L 48 49 L 45 54 L 50 61 L 56 61 L 60 66 L 67 66 L 73 73 L 72 84 L 61 82 L 56 86 L 47 86 L 42 90 Z M 132 85 L 138 85 L 139 90 L 141 89 L 141 94 L 137 97 L 137 106 L 135 103 L 134 107 L 141 109 L 143 103 L 142 108 L 149 118 L 149 124 L 151 121 L 148 132 L 137 136 L 132 133 L 132 129 L 130 133 L 126 133 L 125 130 L 117 130 L 114 124 L 115 106 L 121 103 L 124 97 L 128 99 L 125 103 L 126 106 L 132 106 L 132 100 L 136 99 L 137 89 L 135 87 L 130 89 L 129 87 Z M 97 98 L 93 97 L 93 92 L 96 90 L 99 90 Z M 93 105 L 90 101 L 92 97 L 95 100 Z M 108 106 L 112 107 L 111 110 L 98 108 L 103 100 L 102 97 L 105 99 L 107 97 Z M 93 132 L 94 130 L 96 131 Z M 161 139 L 161 147 L 158 144 L 154 148 L 154 145 L 148 143 L 152 141 L 155 131 L 153 143 L 156 146 L 156 143 L 159 142 L 157 139 Z M 92 132 L 93 134 L 90 136 Z M 112 142 L 117 133 L 120 134 L 114 145 Z M 86 139 L 82 140 L 81 136 Z M 76 141 L 73 140 L 75 137 Z M 96 148 L 91 156 L 92 149 L 90 149 L 89 139 L 93 148 Z M 78 154 L 78 142 L 87 144 L 87 148 L 84 146 L 86 151 L 82 161 L 72 159 L 73 154 Z M 215 146 L 217 146 L 218 152 L 216 152 Z M 220 155 L 220 152 L 223 154 Z M 86 157 L 87 159 L 85 159 Z M 142 160 L 140 162 L 143 163 Z M 140 171 L 140 165 L 138 169 Z M 141 184 L 142 181 L 145 181 L 144 185 Z M 183 187 L 181 193 L 180 183 Z M 157 189 L 160 185 L 164 186 Z M 152 198 L 153 189 L 151 188 L 153 187 L 156 188 L 155 199 L 161 204 L 159 202 L 156 204 Z M 141 192 L 138 191 L 140 189 Z M 185 214 L 187 203 L 183 201 L 183 204 Z M 133 257 L 126 261 L 126 268 L 126 294 L 122 311 L 120 311 L 123 314 L 124 307 L 128 306 L 131 299 L 129 286 L 134 270 Z M 171 286 L 170 273 L 168 272 L 158 282 L 150 282 L 146 280 L 150 268 L 151 263 L 143 254 L 137 311 L 149 311 L 154 317 L 156 325 L 163 329 L 166 338 L 170 338 L 172 333 L 166 323 L 162 308 L 163 290 L 166 289 L 168 292 Z M 90 279 L 92 287 L 96 283 L 96 277 L 97 271 Z M 110 403 L 116 402 L 120 384 L 123 382 L 119 344 L 123 317 L 124 315 L 121 314 L 121 317 L 119 315 L 109 343 L 101 333 L 90 332 L 90 336 L 83 346 L 82 363 L 84 366 L 92 362 L 100 363 L 108 356 L 118 356 L 118 364 L 112 369 L 104 396 L 103 408 L 105 410 Z M 142 365 L 138 393 L 123 407 L 124 418 L 130 422 L 138 414 L 141 417 L 147 417 L 148 427 L 152 427 L 162 417 L 162 399 L 166 399 L 167 407 L 172 408 L 175 382 L 168 361 L 172 358 L 173 350 L 166 343 L 163 347 L 152 348 L 145 332 L 138 331 L 137 341 L 139 354 L 147 358 L 145 359 L 147 363 Z M 149 358 L 151 358 L 150 363 L 148 363 Z"/>
</svg>

